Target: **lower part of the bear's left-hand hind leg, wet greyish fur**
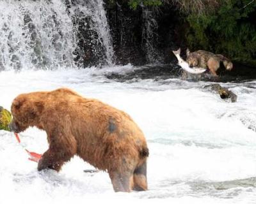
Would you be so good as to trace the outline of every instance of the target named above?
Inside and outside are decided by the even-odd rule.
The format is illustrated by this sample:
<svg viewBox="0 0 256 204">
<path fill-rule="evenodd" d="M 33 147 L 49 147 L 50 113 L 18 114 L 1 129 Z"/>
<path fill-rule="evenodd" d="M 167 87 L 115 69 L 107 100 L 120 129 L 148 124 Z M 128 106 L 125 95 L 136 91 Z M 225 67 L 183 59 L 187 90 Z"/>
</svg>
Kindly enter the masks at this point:
<svg viewBox="0 0 256 204">
<path fill-rule="evenodd" d="M 115 192 L 131 192 L 133 186 L 132 173 L 119 173 L 118 171 L 109 172 Z"/>
</svg>

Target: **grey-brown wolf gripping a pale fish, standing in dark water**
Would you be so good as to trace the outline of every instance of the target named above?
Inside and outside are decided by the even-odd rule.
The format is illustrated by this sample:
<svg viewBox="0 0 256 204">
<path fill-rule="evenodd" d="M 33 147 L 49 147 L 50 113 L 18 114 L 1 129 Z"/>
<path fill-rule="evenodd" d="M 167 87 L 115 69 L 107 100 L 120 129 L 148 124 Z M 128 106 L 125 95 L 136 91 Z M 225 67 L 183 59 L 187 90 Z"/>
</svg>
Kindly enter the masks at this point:
<svg viewBox="0 0 256 204">
<path fill-rule="evenodd" d="M 232 62 L 227 57 L 220 54 L 213 54 L 205 50 L 195 52 L 189 52 L 189 50 L 187 50 L 186 61 L 191 67 L 208 68 L 214 76 L 218 76 L 216 71 L 220 68 L 220 62 L 223 62 L 223 65 L 229 71 L 233 68 Z"/>
</svg>

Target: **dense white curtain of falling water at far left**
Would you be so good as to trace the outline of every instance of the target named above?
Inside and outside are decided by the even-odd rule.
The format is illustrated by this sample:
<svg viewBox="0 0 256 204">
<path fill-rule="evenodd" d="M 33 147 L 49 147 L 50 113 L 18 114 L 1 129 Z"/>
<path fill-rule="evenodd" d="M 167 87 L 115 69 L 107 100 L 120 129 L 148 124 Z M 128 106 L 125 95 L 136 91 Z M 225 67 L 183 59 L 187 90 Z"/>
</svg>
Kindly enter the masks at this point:
<svg viewBox="0 0 256 204">
<path fill-rule="evenodd" d="M 72 21 L 61 1 L 1 1 L 0 69 L 74 66 Z"/>
</svg>

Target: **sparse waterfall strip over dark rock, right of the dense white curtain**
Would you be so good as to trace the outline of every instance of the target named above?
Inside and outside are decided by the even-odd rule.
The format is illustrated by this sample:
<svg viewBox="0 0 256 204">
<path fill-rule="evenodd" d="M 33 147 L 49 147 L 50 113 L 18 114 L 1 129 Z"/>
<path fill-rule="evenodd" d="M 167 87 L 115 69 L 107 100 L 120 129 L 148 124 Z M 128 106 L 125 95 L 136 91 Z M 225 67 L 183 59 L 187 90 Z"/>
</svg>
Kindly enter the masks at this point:
<svg viewBox="0 0 256 204">
<path fill-rule="evenodd" d="M 82 47 L 78 55 L 113 65 L 114 51 L 103 0 L 69 0 L 70 13 Z M 86 29 L 84 29 L 86 27 Z M 81 31 L 82 29 L 82 31 Z M 102 60 L 103 59 L 103 60 Z"/>
</svg>

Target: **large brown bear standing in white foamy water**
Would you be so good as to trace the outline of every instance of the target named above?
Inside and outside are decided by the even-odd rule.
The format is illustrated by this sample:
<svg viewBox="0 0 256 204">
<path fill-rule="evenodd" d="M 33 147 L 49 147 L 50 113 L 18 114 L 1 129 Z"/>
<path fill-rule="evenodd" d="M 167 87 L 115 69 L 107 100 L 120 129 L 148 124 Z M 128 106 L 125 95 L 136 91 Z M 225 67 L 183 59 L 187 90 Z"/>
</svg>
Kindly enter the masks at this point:
<svg viewBox="0 0 256 204">
<path fill-rule="evenodd" d="M 127 113 L 69 89 L 20 94 L 11 110 L 11 131 L 35 126 L 47 133 L 38 171 L 60 171 L 77 155 L 108 171 L 115 191 L 147 190 L 147 142 Z"/>
</svg>

